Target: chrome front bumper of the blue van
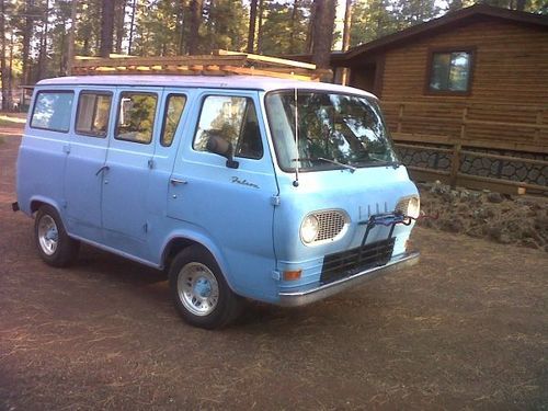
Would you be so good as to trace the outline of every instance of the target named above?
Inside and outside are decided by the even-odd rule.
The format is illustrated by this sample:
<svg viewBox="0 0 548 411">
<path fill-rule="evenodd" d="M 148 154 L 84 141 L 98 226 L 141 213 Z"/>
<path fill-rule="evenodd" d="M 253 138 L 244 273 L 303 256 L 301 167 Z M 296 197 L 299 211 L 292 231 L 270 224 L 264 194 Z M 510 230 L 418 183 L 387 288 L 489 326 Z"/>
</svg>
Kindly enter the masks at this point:
<svg viewBox="0 0 548 411">
<path fill-rule="evenodd" d="M 361 284 L 383 274 L 388 274 L 401 269 L 410 267 L 419 262 L 419 253 L 406 253 L 403 256 L 390 260 L 386 265 L 368 269 L 350 277 L 338 279 L 333 283 L 321 285 L 306 292 L 279 293 L 278 304 L 284 307 L 304 306 L 318 301 L 344 289 L 359 286 Z"/>
</svg>

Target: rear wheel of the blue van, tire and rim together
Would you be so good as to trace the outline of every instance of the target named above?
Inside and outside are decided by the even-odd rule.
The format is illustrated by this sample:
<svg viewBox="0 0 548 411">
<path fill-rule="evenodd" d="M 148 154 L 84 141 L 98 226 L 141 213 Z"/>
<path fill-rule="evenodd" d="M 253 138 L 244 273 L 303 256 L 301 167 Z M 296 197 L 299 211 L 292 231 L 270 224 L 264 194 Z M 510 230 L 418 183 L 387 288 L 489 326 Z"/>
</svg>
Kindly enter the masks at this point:
<svg viewBox="0 0 548 411">
<path fill-rule="evenodd" d="M 59 214 L 50 205 L 43 205 L 36 214 L 34 239 L 41 259 L 52 266 L 68 266 L 78 258 L 80 242 L 67 235 Z"/>
</svg>

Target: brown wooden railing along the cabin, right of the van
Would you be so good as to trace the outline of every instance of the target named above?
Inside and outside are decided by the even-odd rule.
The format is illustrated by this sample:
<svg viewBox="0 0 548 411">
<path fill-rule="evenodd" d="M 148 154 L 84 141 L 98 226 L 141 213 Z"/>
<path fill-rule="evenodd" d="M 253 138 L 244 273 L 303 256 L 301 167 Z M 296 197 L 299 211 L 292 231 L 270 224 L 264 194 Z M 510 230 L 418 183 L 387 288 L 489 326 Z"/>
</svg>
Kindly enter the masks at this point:
<svg viewBox="0 0 548 411">
<path fill-rule="evenodd" d="M 397 147 L 450 159 L 448 170 L 409 164 L 414 179 L 509 194 L 525 190 L 548 193 L 545 185 L 460 170 L 465 156 L 548 167 L 548 106 L 395 101 L 381 104 Z M 481 152 L 486 149 L 500 153 Z M 507 151 L 540 155 L 543 159 L 523 158 Z"/>
</svg>

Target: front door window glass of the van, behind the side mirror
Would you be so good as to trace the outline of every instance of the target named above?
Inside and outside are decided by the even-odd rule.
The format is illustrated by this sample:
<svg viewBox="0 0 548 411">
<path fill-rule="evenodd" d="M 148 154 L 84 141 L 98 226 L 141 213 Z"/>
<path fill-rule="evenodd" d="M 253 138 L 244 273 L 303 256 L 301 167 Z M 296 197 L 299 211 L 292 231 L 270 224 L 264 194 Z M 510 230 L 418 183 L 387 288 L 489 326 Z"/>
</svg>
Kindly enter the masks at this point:
<svg viewBox="0 0 548 411">
<path fill-rule="evenodd" d="M 209 136 L 217 135 L 232 144 L 235 155 L 249 159 L 263 157 L 263 144 L 255 106 L 248 98 L 209 95 L 204 100 L 193 148 L 207 151 Z"/>
</svg>

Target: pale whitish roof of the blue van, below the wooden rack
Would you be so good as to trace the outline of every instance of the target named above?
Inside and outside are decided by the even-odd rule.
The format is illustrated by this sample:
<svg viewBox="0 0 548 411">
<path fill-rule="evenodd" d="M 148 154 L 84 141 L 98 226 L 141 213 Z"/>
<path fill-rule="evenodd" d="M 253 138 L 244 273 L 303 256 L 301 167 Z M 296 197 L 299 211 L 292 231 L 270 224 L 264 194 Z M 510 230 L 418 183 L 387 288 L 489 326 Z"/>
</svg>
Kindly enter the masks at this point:
<svg viewBox="0 0 548 411">
<path fill-rule="evenodd" d="M 278 79 L 260 76 L 173 76 L 173 75 L 101 75 L 71 76 L 45 79 L 36 85 L 106 85 L 106 87 L 176 87 L 216 88 L 274 91 L 287 89 L 321 90 L 339 93 L 353 93 L 366 96 L 373 94 L 351 87 L 293 79 Z"/>
</svg>

